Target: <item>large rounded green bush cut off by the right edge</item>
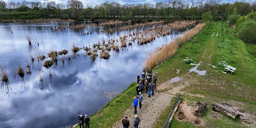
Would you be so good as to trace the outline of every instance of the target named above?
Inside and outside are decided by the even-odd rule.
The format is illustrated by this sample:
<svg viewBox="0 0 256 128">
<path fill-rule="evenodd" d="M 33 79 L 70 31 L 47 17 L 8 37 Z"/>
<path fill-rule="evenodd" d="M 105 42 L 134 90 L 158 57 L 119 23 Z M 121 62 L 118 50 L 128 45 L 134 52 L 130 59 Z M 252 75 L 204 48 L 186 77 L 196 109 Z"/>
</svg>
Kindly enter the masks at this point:
<svg viewBox="0 0 256 128">
<path fill-rule="evenodd" d="M 238 26 L 237 35 L 246 43 L 256 43 L 256 21 L 249 19 Z"/>
</svg>

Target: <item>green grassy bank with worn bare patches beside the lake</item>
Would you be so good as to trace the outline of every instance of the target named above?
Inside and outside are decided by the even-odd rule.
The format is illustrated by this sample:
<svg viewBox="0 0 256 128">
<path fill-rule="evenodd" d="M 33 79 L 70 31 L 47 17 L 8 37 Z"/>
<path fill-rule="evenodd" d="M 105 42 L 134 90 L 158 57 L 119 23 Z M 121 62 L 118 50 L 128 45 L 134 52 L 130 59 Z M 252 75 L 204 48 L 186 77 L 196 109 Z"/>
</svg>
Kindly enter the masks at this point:
<svg viewBox="0 0 256 128">
<path fill-rule="evenodd" d="M 189 83 L 181 92 L 177 92 L 182 94 L 182 102 L 191 106 L 197 101 L 207 103 L 207 110 L 200 117 L 202 124 L 195 125 L 190 121 L 173 118 L 170 127 L 253 127 L 251 124 L 255 123 L 252 121 L 256 120 L 255 47 L 243 43 L 225 22 L 211 22 L 190 41 L 179 45 L 174 56 L 154 67 L 152 71 L 158 76 L 158 83 L 176 76 L 181 77 L 181 81 L 171 84 L 169 88 L 182 86 L 184 81 Z M 206 75 L 189 72 L 194 65 L 183 61 L 186 57 L 191 58 L 191 62 L 201 62 L 197 69 L 206 70 Z M 228 65 L 236 67 L 234 74 L 222 73 L 225 69 L 223 65 L 218 64 L 220 61 L 226 61 Z M 111 127 L 114 122 L 119 121 L 131 105 L 132 96 L 136 94 L 134 88 L 135 83 L 131 83 L 125 91 L 93 114 L 90 117 L 90 127 Z M 172 99 L 171 103 L 174 101 L 175 99 Z M 212 103 L 227 103 L 254 117 L 249 116 L 247 121 L 232 119 L 213 111 Z M 162 113 L 155 127 L 162 126 L 171 107 Z"/>
</svg>

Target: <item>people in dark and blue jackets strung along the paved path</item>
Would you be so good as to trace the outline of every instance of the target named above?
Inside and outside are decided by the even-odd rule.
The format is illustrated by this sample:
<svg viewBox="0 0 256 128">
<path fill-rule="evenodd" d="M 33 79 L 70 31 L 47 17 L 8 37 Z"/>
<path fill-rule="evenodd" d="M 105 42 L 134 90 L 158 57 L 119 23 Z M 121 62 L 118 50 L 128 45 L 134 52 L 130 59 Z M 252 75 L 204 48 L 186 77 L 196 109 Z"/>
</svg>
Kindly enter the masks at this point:
<svg viewBox="0 0 256 128">
<path fill-rule="evenodd" d="M 142 72 L 141 73 L 141 79 L 139 77 L 139 75 L 137 75 L 137 85 L 136 85 L 136 92 L 137 92 L 137 96 L 133 96 L 133 102 L 132 105 L 134 106 L 134 113 L 137 113 L 137 105 L 139 104 L 139 109 L 142 107 L 141 106 L 141 102 L 143 100 L 143 90 L 144 88 L 146 89 L 145 93 L 148 93 L 148 97 L 151 97 L 151 95 L 154 94 L 154 89 L 156 89 L 156 80 L 157 80 L 157 76 L 155 75 L 153 77 L 153 81 L 152 80 L 152 71 L 151 69 L 148 70 L 148 72 Z M 133 121 L 133 126 L 134 128 L 138 127 L 139 124 L 139 117 L 138 115 L 134 116 L 134 121 Z M 127 119 L 127 116 L 125 118 L 122 119 L 122 124 L 123 124 L 123 128 L 128 128 L 129 127 L 129 120 Z"/>
</svg>

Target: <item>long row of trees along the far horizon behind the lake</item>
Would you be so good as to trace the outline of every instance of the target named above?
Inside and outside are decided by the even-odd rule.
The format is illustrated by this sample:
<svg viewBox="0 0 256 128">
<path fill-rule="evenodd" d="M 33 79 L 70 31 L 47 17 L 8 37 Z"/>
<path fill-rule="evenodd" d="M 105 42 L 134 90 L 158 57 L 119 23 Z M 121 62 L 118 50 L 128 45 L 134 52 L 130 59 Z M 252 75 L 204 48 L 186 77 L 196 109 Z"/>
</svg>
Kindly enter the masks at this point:
<svg viewBox="0 0 256 128">
<path fill-rule="evenodd" d="M 0 21 L 12 19 L 119 19 L 133 18 L 174 18 L 201 19 L 202 14 L 211 11 L 213 20 L 227 20 L 233 9 L 239 15 L 256 10 L 256 2 L 242 0 L 234 3 L 220 3 L 220 0 L 164 0 L 155 4 L 124 4 L 106 1 L 100 5 L 83 5 L 79 0 L 67 3 L 48 2 L 8 2 L 0 0 Z"/>
</svg>

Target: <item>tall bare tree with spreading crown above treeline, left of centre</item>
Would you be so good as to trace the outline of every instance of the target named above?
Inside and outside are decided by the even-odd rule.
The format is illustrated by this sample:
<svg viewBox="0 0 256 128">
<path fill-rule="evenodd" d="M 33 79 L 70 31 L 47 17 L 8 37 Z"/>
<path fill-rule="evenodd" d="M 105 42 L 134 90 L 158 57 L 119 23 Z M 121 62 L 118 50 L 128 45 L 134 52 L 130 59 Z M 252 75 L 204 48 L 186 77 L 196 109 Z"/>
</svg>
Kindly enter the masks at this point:
<svg viewBox="0 0 256 128">
<path fill-rule="evenodd" d="M 83 4 L 79 0 L 68 0 L 67 1 L 68 6 L 72 9 L 72 16 L 74 18 L 77 18 L 79 15 L 80 10 L 83 7 Z"/>
</svg>

